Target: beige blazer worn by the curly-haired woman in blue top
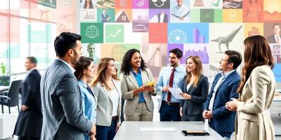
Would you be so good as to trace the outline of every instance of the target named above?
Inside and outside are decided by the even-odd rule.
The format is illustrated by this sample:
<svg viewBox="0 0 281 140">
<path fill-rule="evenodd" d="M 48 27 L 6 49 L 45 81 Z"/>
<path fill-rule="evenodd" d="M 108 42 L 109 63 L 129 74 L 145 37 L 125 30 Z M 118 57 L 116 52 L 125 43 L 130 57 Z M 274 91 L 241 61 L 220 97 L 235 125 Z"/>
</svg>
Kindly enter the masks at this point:
<svg viewBox="0 0 281 140">
<path fill-rule="evenodd" d="M 136 111 L 136 106 L 138 106 L 138 101 L 140 100 L 139 96 L 133 97 L 133 90 L 139 87 L 138 82 L 131 71 L 129 76 L 126 76 L 124 73 L 122 73 L 120 78 L 122 97 L 125 99 L 124 114 L 131 116 Z M 141 78 L 143 80 L 143 85 L 147 85 L 148 82 L 154 81 L 152 73 L 148 68 L 146 68 L 144 71 L 141 71 Z M 157 90 L 155 88 L 154 94 L 156 94 L 156 92 Z M 143 95 L 145 97 L 145 102 L 148 106 L 148 109 L 153 113 L 154 105 L 150 93 L 146 91 L 143 92 Z"/>
</svg>

